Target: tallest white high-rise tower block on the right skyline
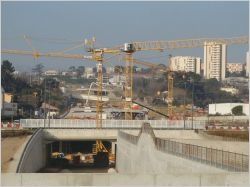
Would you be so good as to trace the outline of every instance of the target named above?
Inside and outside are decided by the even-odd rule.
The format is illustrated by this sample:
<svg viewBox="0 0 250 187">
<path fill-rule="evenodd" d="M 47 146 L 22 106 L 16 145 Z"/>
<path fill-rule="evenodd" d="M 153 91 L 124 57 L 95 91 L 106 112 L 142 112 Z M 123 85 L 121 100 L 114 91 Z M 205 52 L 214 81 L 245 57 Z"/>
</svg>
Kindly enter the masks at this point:
<svg viewBox="0 0 250 187">
<path fill-rule="evenodd" d="M 204 43 L 204 77 L 224 80 L 226 76 L 226 44 L 216 42 Z"/>
</svg>

